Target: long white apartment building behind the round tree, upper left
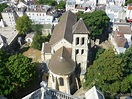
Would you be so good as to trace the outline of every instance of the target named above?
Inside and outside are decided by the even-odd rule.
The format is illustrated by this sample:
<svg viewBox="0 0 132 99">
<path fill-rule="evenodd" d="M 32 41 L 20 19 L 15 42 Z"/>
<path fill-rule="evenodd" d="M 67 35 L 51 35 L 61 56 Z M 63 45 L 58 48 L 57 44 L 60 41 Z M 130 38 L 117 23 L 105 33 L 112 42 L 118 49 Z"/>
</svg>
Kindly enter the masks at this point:
<svg viewBox="0 0 132 99">
<path fill-rule="evenodd" d="M 32 5 L 25 13 L 35 24 L 53 24 L 54 17 L 48 13 L 49 9 L 49 6 Z"/>
</svg>

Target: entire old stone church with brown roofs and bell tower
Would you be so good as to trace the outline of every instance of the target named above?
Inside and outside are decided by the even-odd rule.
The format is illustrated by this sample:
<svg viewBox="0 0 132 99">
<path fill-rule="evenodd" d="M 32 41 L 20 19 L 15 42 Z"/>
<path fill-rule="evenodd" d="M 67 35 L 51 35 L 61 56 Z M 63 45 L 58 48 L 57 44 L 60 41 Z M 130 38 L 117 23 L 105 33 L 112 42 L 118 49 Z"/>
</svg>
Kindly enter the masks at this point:
<svg viewBox="0 0 132 99">
<path fill-rule="evenodd" d="M 73 94 L 89 64 L 89 30 L 71 11 L 62 14 L 49 42 L 42 44 L 42 61 L 49 70 L 48 87 Z"/>
</svg>

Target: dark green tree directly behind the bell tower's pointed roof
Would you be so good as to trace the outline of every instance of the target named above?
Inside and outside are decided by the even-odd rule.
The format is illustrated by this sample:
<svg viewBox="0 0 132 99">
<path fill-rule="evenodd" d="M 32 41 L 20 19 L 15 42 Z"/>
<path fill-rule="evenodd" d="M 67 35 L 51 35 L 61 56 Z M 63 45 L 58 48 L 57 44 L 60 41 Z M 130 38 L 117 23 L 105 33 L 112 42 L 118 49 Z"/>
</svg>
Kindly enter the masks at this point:
<svg viewBox="0 0 132 99">
<path fill-rule="evenodd" d="M 78 19 L 83 18 L 85 24 L 90 30 L 93 39 L 98 38 L 104 34 L 109 25 L 109 17 L 102 10 L 97 10 L 92 13 L 77 13 Z"/>
</svg>

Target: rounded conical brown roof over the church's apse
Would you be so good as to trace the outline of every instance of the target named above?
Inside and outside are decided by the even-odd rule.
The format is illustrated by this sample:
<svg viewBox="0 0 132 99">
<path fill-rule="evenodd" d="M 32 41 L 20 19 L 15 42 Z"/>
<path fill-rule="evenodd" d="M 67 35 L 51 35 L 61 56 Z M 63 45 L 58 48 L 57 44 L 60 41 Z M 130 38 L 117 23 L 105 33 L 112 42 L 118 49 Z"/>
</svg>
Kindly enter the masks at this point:
<svg viewBox="0 0 132 99">
<path fill-rule="evenodd" d="M 61 47 L 51 57 L 49 70 L 58 75 L 67 75 L 75 70 L 75 63 L 71 59 L 71 54 L 65 47 Z"/>
</svg>

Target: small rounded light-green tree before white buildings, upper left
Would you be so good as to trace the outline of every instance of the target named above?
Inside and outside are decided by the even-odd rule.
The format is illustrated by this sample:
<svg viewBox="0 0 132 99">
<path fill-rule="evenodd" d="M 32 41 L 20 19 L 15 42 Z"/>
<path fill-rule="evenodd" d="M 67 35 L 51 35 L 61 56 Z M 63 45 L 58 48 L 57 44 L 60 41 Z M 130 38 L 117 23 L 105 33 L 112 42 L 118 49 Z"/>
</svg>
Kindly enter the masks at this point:
<svg viewBox="0 0 132 99">
<path fill-rule="evenodd" d="M 19 34 L 25 34 L 31 29 L 31 26 L 32 21 L 26 15 L 19 17 L 16 21 L 16 29 L 19 31 Z"/>
</svg>

